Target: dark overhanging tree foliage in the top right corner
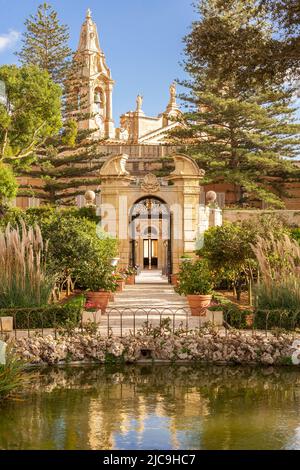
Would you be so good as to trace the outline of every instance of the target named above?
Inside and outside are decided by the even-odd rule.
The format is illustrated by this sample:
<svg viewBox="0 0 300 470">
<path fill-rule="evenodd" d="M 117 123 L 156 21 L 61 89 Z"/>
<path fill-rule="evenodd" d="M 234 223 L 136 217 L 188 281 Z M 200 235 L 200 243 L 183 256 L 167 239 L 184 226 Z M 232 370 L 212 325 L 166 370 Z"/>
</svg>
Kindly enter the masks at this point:
<svg viewBox="0 0 300 470">
<path fill-rule="evenodd" d="M 299 77 L 298 0 L 200 0 L 197 10 L 185 38 L 189 73 L 209 69 L 243 90 Z"/>
</svg>

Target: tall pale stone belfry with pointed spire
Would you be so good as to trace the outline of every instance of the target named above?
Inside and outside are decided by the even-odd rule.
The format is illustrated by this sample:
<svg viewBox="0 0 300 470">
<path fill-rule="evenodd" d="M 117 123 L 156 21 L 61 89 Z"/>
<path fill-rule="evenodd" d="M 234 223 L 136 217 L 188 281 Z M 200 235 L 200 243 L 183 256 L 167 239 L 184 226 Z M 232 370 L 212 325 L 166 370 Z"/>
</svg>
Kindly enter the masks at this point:
<svg viewBox="0 0 300 470">
<path fill-rule="evenodd" d="M 97 26 L 88 9 L 81 27 L 78 49 L 74 60 L 79 64 L 77 90 L 78 111 L 84 116 L 80 129 L 95 130 L 97 138 L 115 138 L 112 117 L 112 90 L 114 81 L 105 55 L 100 47 Z"/>
</svg>

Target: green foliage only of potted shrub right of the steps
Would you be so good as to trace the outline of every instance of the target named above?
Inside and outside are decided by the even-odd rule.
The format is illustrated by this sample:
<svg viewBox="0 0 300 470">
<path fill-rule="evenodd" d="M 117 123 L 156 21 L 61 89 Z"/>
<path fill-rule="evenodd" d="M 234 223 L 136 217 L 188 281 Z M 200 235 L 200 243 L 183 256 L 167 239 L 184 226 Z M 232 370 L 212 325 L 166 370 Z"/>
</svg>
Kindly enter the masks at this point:
<svg viewBox="0 0 300 470">
<path fill-rule="evenodd" d="M 212 275 L 203 260 L 182 263 L 176 292 L 181 295 L 208 295 L 212 293 Z"/>
</svg>

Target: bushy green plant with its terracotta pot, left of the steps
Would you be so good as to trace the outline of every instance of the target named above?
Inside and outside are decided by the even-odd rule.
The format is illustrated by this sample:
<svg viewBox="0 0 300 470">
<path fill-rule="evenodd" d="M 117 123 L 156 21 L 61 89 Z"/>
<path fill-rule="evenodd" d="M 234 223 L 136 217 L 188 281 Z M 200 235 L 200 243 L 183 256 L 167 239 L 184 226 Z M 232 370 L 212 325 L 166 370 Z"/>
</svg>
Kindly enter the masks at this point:
<svg viewBox="0 0 300 470">
<path fill-rule="evenodd" d="M 112 267 L 108 265 L 95 266 L 93 263 L 87 263 L 85 269 L 81 271 L 81 276 L 81 283 L 87 291 L 87 301 L 95 305 L 102 313 L 105 313 L 111 295 L 117 288 Z"/>
</svg>

